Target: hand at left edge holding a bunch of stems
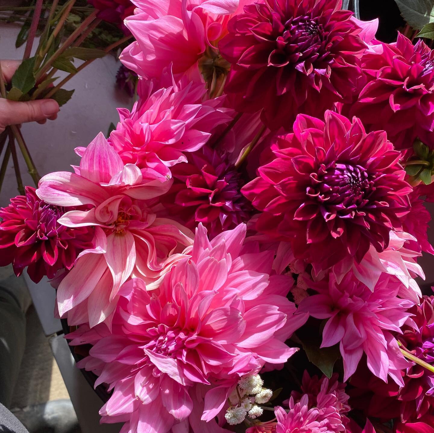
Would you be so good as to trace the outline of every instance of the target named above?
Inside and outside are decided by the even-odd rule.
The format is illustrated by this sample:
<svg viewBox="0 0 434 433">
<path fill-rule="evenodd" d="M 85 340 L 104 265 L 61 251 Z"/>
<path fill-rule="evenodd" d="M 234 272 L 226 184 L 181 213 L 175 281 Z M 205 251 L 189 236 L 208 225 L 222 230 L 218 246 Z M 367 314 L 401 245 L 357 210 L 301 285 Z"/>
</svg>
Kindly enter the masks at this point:
<svg viewBox="0 0 434 433">
<path fill-rule="evenodd" d="M 1 60 L 3 80 L 9 82 L 20 65 L 18 60 Z M 54 99 L 17 102 L 0 98 L 0 133 L 9 125 L 36 121 L 40 124 L 47 119 L 54 120 L 59 112 L 59 104 Z"/>
</svg>

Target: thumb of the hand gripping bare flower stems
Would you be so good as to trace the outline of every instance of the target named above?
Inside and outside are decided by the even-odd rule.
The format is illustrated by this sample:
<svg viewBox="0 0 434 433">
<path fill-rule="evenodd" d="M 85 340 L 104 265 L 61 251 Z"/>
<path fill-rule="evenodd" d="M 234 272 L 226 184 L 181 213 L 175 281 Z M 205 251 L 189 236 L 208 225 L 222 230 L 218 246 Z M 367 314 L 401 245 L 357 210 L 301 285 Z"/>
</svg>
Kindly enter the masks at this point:
<svg viewBox="0 0 434 433">
<path fill-rule="evenodd" d="M 8 125 L 45 120 L 59 111 L 59 104 L 53 99 L 17 102 L 0 99 L 0 132 Z"/>
</svg>

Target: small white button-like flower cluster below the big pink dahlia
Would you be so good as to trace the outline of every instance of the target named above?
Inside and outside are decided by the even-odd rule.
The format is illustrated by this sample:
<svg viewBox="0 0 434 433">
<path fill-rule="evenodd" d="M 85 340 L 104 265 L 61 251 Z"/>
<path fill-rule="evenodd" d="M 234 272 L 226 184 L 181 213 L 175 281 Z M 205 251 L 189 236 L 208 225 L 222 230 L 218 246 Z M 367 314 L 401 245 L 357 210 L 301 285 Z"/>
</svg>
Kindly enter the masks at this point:
<svg viewBox="0 0 434 433">
<path fill-rule="evenodd" d="M 267 403 L 273 395 L 263 384 L 259 374 L 249 374 L 238 381 L 237 387 L 229 396 L 231 405 L 224 416 L 228 424 L 233 426 L 242 423 L 246 417 L 254 419 L 262 415 L 263 409 L 257 404 Z"/>
</svg>

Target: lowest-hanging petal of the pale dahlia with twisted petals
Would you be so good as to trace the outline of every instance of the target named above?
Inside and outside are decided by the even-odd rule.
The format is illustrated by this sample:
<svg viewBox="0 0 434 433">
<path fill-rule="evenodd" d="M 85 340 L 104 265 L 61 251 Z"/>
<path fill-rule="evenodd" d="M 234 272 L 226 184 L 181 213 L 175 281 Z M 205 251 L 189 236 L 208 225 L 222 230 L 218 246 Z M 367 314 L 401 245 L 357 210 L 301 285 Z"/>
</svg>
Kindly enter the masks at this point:
<svg viewBox="0 0 434 433">
<path fill-rule="evenodd" d="M 88 297 L 87 311 L 89 315 L 89 326 L 98 325 L 112 313 L 116 307 L 116 302 L 111 302 L 110 292 L 107 287 L 113 286 L 113 278 L 110 270 L 107 268 L 104 275 L 96 284 L 92 293 Z"/>
</svg>

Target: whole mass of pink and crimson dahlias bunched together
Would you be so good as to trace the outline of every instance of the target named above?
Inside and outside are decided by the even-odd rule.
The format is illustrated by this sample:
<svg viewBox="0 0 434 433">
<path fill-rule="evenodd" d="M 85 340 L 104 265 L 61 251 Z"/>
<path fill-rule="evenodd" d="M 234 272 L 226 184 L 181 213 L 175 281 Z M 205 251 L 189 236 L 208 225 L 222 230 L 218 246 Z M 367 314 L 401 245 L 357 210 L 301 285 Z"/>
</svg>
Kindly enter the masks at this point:
<svg viewBox="0 0 434 433">
<path fill-rule="evenodd" d="M 92 4 L 138 101 L 1 209 L 0 264 L 53 280 L 101 422 L 434 433 L 434 51 L 340 0 Z"/>
</svg>

